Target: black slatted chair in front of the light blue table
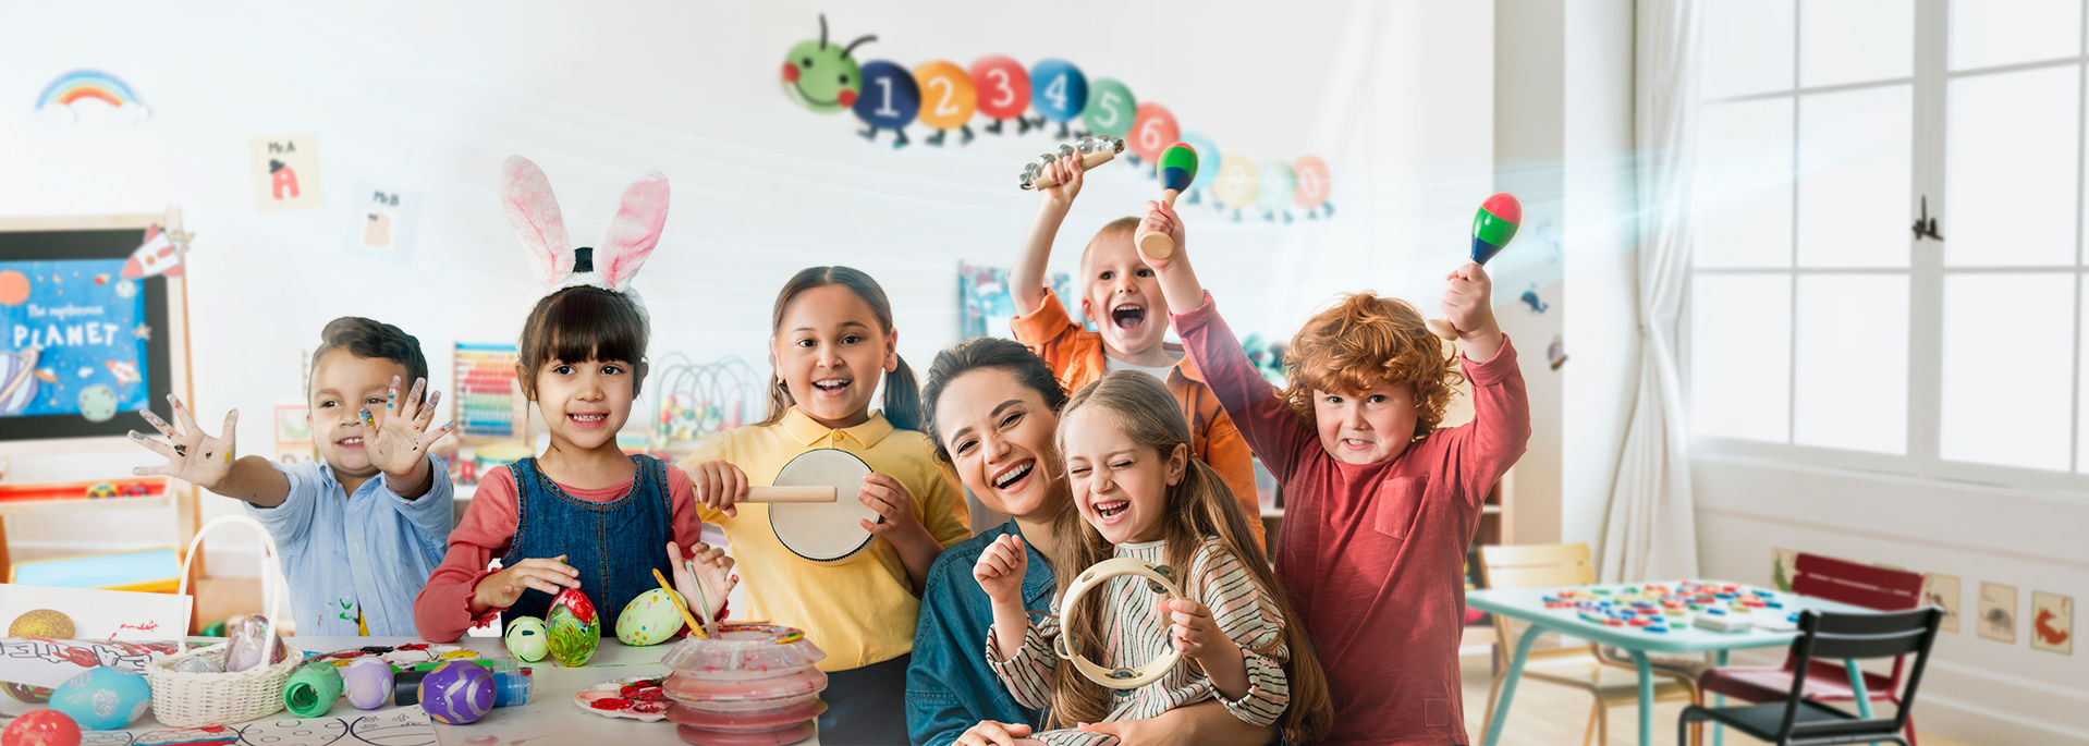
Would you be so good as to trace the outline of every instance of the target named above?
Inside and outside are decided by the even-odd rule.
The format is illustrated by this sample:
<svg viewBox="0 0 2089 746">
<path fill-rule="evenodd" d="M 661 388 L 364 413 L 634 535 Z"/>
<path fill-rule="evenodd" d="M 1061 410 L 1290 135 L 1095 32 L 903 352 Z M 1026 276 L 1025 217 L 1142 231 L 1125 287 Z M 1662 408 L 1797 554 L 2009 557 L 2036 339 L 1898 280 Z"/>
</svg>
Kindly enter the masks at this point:
<svg viewBox="0 0 2089 746">
<path fill-rule="evenodd" d="M 1907 746 L 1901 731 L 1907 727 L 1907 710 L 1916 706 L 1916 687 L 1922 685 L 1922 667 L 1930 660 L 1930 644 L 1937 642 L 1937 625 L 1943 610 L 1937 606 L 1886 614 L 1826 614 L 1807 610 L 1799 614 L 1799 639 L 1792 642 L 1792 660 L 1813 658 L 1899 658 L 1916 654 L 1916 665 L 1907 673 L 1907 692 L 1893 717 L 1857 717 L 1828 704 L 1807 700 L 1809 665 L 1801 665 L 1792 677 L 1790 698 L 1769 704 L 1744 706 L 1686 706 L 1677 723 L 1677 744 L 1690 742 L 1690 727 L 1703 721 L 1726 723 L 1732 729 L 1761 738 L 1778 746 L 1813 744 L 1870 744 L 1895 742 Z"/>
</svg>

